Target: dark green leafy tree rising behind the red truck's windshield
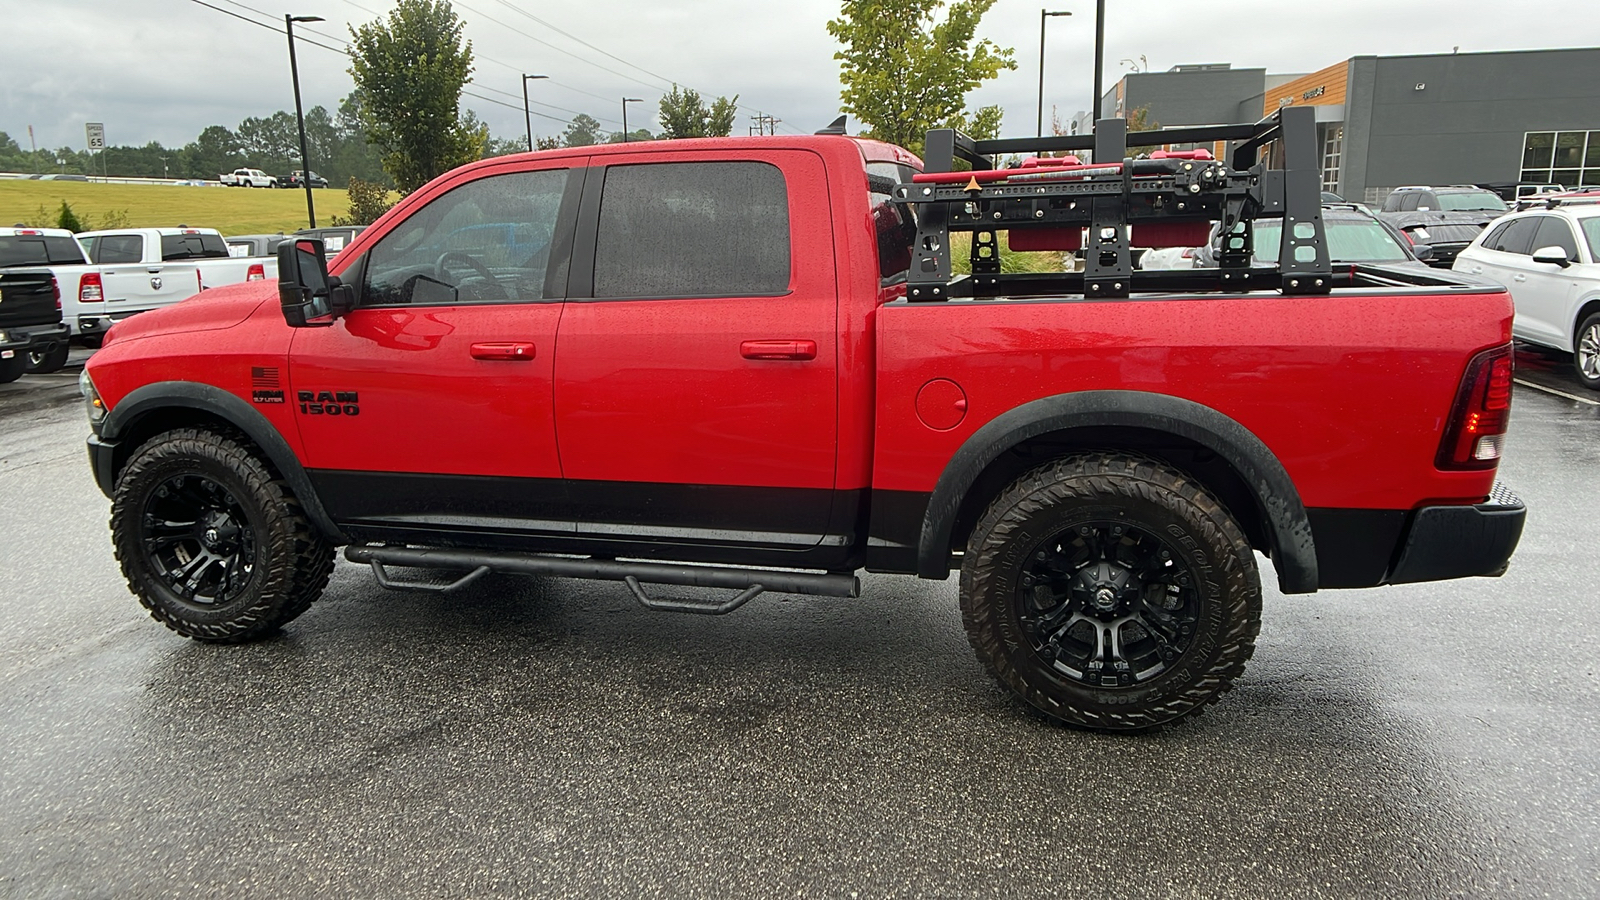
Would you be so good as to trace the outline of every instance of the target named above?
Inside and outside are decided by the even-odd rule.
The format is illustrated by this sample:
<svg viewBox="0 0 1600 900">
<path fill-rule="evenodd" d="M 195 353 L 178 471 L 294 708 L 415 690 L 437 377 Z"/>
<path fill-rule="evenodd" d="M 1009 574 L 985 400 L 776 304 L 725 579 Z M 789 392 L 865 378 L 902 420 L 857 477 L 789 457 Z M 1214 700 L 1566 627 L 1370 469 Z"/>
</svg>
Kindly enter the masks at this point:
<svg viewBox="0 0 1600 900">
<path fill-rule="evenodd" d="M 483 157 L 488 131 L 461 114 L 472 77 L 472 42 L 461 32 L 450 0 L 398 0 L 387 21 L 350 29 L 362 128 L 402 194 Z"/>
</svg>

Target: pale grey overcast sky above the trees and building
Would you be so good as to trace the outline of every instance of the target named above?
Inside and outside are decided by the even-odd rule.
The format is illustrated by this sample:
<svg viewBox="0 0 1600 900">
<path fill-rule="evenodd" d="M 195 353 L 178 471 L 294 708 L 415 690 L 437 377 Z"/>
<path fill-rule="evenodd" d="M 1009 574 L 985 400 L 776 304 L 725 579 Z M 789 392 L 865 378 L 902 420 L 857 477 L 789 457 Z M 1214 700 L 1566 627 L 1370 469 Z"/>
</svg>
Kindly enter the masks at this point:
<svg viewBox="0 0 1600 900">
<path fill-rule="evenodd" d="M 269 0 L 205 2 L 278 29 L 283 13 L 322 16 L 325 22 L 309 26 L 320 34 L 304 37 L 333 46 L 349 38 L 350 24 L 376 19 L 392 5 L 293 0 L 285 10 Z M 1046 117 L 1058 104 L 1066 119 L 1093 93 L 1094 3 L 1050 2 L 1051 10 L 1074 13 L 1051 19 L 1046 40 Z M 672 82 L 707 96 L 736 93 L 742 117 L 778 115 L 781 133 L 814 131 L 838 115 L 837 46 L 826 29 L 837 0 L 458 0 L 454 6 L 477 54 L 467 90 L 491 98 L 467 96 L 464 104 L 501 138 L 523 135 L 523 72 L 550 77 L 528 85 L 533 109 L 549 117 L 534 115 L 534 135 L 560 133 L 574 112 L 621 130 L 622 96 L 645 101 L 629 107 L 629 125 L 643 120 L 654 130 L 656 102 Z M 1232 62 L 1278 74 L 1357 54 L 1600 45 L 1595 0 L 1514 8 L 1502 0 L 1109 0 L 1106 85 L 1128 70 L 1120 59 L 1141 54 L 1155 72 Z M 1034 128 L 1038 13 L 1037 2 L 1000 0 L 979 30 L 1016 50 L 1018 69 L 970 98 L 973 106 L 1005 107 L 1005 135 Z M 0 131 L 24 147 L 29 125 L 40 147 L 82 149 L 85 122 L 104 122 L 112 144 L 181 146 L 206 125 L 234 128 L 250 115 L 294 109 L 283 35 L 194 0 L 0 0 Z M 307 109 L 333 110 L 352 88 L 341 53 L 301 45 L 299 66 Z M 747 125 L 741 119 L 734 131 L 742 135 Z"/>
</svg>

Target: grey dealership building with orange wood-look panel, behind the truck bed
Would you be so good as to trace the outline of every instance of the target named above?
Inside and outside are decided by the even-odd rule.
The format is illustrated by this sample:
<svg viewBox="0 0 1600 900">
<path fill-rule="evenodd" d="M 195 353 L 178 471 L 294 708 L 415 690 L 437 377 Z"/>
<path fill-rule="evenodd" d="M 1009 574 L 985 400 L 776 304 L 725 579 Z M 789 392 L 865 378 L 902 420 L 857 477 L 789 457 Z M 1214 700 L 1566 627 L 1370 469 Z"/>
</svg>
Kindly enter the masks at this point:
<svg viewBox="0 0 1600 900">
<path fill-rule="evenodd" d="M 1350 200 L 1402 184 L 1600 186 L 1600 48 L 1355 56 L 1306 75 L 1176 66 L 1125 75 L 1101 115 L 1144 109 L 1170 128 L 1283 106 L 1317 110 L 1323 189 Z"/>
</svg>

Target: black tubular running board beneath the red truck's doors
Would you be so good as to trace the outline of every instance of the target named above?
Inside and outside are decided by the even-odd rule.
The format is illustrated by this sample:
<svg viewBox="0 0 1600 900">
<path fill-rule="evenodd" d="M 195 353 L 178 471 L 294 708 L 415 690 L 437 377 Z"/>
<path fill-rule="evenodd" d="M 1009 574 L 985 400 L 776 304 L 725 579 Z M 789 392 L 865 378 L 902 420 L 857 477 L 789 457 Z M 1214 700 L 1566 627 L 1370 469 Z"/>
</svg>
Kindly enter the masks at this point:
<svg viewBox="0 0 1600 900">
<path fill-rule="evenodd" d="M 861 581 L 854 575 L 821 575 L 813 572 L 786 572 L 778 569 L 722 569 L 714 565 L 683 565 L 670 562 L 619 562 L 614 559 L 584 559 L 570 556 L 541 556 L 534 552 L 474 552 L 461 549 L 427 549 L 406 546 L 347 546 L 344 557 L 373 567 L 378 583 L 390 591 L 454 591 L 466 588 L 490 572 L 515 575 L 558 575 L 563 578 L 595 578 L 622 581 L 640 605 L 662 612 L 693 612 L 704 615 L 730 613 L 762 591 L 784 594 L 814 594 L 822 597 L 859 597 Z M 448 585 L 426 581 L 395 581 L 384 565 L 408 569 L 467 570 Z M 656 599 L 645 593 L 643 583 L 682 585 L 690 588 L 733 588 L 739 594 L 723 601 Z"/>
</svg>

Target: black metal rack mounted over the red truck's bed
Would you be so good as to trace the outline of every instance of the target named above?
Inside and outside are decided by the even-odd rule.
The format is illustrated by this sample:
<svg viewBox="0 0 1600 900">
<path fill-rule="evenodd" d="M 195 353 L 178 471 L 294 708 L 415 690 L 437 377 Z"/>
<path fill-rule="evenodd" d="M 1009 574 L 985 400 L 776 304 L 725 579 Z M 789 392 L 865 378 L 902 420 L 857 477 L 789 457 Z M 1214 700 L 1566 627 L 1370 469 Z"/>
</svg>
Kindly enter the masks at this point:
<svg viewBox="0 0 1600 900">
<path fill-rule="evenodd" d="M 896 200 L 917 207 L 917 245 L 906 296 L 944 301 L 965 296 L 1082 293 L 1123 298 L 1133 291 L 1282 290 L 1326 293 L 1333 287 L 1322 226 L 1317 123 L 1310 107 L 1283 107 L 1253 125 L 1202 125 L 1128 133 L 1122 119 L 1101 119 L 1093 135 L 974 141 L 960 131 L 928 133 L 925 170 L 894 186 Z M 1227 141 L 1227 159 L 1130 159 L 1128 147 Z M 1283 168 L 1262 165 L 1259 149 L 1283 146 Z M 997 170 L 995 157 L 1019 152 L 1091 151 L 1088 165 Z M 955 175 L 963 160 L 971 173 Z M 963 178 L 965 176 L 965 178 Z M 1277 267 L 1250 267 L 1251 221 L 1282 218 Z M 1130 226 L 1224 223 L 1229 235 L 1216 269 L 1134 271 Z M 1058 234 L 1088 229 L 1083 272 L 1003 274 L 997 231 Z M 950 231 L 973 232 L 971 275 L 950 274 Z"/>
</svg>

